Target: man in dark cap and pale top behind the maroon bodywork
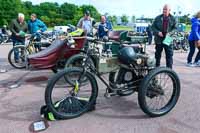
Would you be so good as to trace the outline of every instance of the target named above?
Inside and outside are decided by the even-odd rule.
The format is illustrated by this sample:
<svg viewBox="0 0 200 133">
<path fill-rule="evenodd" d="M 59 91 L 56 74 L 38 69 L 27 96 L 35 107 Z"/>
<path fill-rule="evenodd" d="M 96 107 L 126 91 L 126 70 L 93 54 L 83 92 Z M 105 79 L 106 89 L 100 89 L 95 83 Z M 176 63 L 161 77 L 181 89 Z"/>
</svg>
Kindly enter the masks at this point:
<svg viewBox="0 0 200 133">
<path fill-rule="evenodd" d="M 84 17 L 82 17 L 77 27 L 84 30 L 85 35 L 92 33 L 92 26 L 93 26 L 94 19 L 90 17 L 90 12 L 86 11 Z"/>
</svg>

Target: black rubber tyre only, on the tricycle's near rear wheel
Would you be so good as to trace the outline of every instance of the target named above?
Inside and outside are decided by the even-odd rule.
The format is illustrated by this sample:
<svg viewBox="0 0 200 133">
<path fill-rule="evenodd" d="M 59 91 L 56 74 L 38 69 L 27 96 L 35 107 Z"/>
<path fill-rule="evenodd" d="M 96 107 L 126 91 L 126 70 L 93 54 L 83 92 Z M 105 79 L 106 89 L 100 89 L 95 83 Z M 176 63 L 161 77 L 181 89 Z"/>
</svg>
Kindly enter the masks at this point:
<svg viewBox="0 0 200 133">
<path fill-rule="evenodd" d="M 165 105 L 161 110 L 152 111 L 147 107 L 145 97 L 146 97 L 146 91 L 147 86 L 151 79 L 153 79 L 157 74 L 159 73 L 168 73 L 170 77 L 173 80 L 173 84 L 175 84 L 176 89 L 173 90 L 172 97 L 168 101 L 167 105 Z M 140 108 L 143 110 L 144 113 L 146 113 L 150 117 L 159 117 L 167 114 L 169 111 L 173 109 L 173 107 L 176 105 L 179 96 L 180 96 L 180 80 L 178 75 L 170 68 L 166 67 L 157 67 L 149 72 L 148 75 L 145 76 L 143 81 L 141 82 L 139 91 L 138 91 L 138 102 L 140 105 Z"/>
</svg>

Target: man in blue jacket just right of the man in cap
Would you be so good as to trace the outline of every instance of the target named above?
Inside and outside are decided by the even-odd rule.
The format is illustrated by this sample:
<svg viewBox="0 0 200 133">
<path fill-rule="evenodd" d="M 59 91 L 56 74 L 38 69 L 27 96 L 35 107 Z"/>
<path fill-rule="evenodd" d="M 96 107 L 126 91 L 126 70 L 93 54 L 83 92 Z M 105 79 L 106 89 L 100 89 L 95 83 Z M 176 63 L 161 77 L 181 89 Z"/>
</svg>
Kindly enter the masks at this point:
<svg viewBox="0 0 200 133">
<path fill-rule="evenodd" d="M 112 30 L 112 25 L 109 21 L 106 20 L 105 16 L 101 16 L 101 23 L 98 28 L 98 36 L 99 38 L 103 38 L 104 36 L 108 36 L 108 31 Z"/>
</svg>

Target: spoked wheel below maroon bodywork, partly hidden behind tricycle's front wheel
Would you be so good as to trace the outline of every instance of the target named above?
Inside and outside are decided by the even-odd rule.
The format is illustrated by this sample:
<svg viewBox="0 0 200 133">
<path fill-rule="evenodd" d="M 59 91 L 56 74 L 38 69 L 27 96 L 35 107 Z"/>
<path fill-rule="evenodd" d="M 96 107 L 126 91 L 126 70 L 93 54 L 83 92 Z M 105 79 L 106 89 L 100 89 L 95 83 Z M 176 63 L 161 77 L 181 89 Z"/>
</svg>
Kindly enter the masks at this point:
<svg viewBox="0 0 200 133">
<path fill-rule="evenodd" d="M 83 60 L 86 58 L 86 55 L 84 54 L 76 54 L 76 55 L 73 55 L 71 56 L 66 64 L 65 64 L 65 68 L 68 68 L 68 67 L 82 67 L 82 63 L 83 63 Z M 94 62 L 91 58 L 88 59 L 88 61 L 86 62 L 87 64 L 90 64 L 91 66 L 95 66 L 94 65 Z M 72 78 L 68 75 L 65 76 L 65 79 L 67 80 L 67 82 L 71 83 L 71 84 L 74 84 L 74 80 L 72 80 Z M 88 79 L 87 78 L 83 78 L 82 79 L 82 84 L 87 84 L 88 82 Z"/>
</svg>

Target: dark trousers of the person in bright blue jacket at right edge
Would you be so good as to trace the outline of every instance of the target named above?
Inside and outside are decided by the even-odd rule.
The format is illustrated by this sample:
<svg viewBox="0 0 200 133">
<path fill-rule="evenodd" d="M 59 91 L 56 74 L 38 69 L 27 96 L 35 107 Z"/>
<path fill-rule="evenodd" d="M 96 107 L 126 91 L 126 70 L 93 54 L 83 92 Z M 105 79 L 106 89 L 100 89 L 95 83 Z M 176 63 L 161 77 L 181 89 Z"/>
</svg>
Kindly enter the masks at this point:
<svg viewBox="0 0 200 133">
<path fill-rule="evenodd" d="M 188 57 L 187 57 L 187 63 L 192 63 L 192 57 L 195 53 L 195 41 L 189 41 L 189 44 L 190 44 L 190 52 L 188 54 Z M 194 60 L 194 63 L 198 62 L 198 60 L 200 60 L 200 48 L 198 48 L 198 53 L 195 57 L 195 60 Z"/>
</svg>

